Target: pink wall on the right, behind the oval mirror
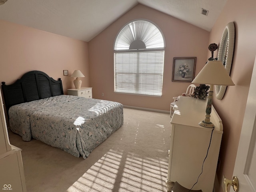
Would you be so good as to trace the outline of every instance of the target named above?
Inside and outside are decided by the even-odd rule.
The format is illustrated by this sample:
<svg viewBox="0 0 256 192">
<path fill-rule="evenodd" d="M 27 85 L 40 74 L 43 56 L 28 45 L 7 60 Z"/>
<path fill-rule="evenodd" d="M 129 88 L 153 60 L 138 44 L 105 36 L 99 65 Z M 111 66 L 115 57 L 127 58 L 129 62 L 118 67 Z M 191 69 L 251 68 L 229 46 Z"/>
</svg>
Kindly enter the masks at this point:
<svg viewBox="0 0 256 192">
<path fill-rule="evenodd" d="M 213 101 L 224 126 L 218 170 L 219 186 L 223 182 L 223 175 L 229 179 L 233 177 L 236 151 L 256 54 L 255 7 L 255 0 L 228 0 L 210 33 L 210 42 L 219 44 L 226 24 L 229 22 L 235 24 L 235 48 L 230 76 L 236 86 L 229 86 L 222 100 L 214 98 Z M 222 191 L 221 187 L 219 191 Z"/>
</svg>

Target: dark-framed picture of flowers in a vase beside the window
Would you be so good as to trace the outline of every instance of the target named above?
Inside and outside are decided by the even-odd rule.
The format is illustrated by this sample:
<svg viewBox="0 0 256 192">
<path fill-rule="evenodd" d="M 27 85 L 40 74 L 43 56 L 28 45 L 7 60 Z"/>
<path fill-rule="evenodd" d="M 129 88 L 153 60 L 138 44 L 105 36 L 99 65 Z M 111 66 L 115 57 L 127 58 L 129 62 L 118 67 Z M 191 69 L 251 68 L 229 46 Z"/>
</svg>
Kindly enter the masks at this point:
<svg viewBox="0 0 256 192">
<path fill-rule="evenodd" d="M 196 57 L 173 58 L 172 81 L 192 82 L 195 76 Z"/>
</svg>

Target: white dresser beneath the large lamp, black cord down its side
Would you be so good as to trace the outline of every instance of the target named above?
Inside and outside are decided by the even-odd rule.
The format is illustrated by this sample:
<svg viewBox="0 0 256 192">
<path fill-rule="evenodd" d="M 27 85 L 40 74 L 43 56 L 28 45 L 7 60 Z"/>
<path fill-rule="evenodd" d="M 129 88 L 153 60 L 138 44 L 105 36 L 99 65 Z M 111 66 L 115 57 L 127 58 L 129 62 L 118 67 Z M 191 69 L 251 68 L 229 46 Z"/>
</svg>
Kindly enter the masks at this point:
<svg viewBox="0 0 256 192">
<path fill-rule="evenodd" d="M 207 99 L 180 97 L 174 106 L 166 180 L 168 192 L 171 191 L 174 182 L 191 189 L 202 172 L 202 166 L 203 172 L 192 190 L 213 191 L 223 126 L 213 106 L 210 117 L 215 125 L 213 132 L 212 129 L 198 124 L 204 120 L 206 103 Z"/>
</svg>

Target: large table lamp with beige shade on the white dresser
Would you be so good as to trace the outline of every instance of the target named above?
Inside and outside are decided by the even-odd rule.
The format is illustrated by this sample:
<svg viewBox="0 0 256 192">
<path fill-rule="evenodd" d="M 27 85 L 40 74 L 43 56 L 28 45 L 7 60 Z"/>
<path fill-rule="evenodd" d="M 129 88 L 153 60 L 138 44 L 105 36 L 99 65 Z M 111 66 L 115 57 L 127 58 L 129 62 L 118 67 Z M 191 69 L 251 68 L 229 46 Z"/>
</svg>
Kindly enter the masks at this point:
<svg viewBox="0 0 256 192">
<path fill-rule="evenodd" d="M 210 85 L 205 119 L 199 122 L 199 125 L 206 128 L 214 128 L 214 124 L 210 122 L 210 114 L 212 111 L 213 86 L 214 85 L 228 86 L 228 85 L 235 85 L 235 84 L 233 83 L 230 76 L 228 75 L 228 72 L 226 71 L 222 62 L 217 60 L 208 61 L 206 65 L 202 68 L 202 70 L 198 73 L 196 78 L 194 78 L 192 83 Z"/>
</svg>

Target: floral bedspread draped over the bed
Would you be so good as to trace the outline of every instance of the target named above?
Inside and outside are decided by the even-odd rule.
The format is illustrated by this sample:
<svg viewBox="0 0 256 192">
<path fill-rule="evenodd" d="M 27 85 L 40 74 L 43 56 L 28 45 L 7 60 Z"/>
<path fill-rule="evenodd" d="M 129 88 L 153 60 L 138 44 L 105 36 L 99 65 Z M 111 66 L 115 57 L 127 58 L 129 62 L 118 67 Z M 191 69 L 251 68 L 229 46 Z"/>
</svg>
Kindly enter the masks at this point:
<svg viewBox="0 0 256 192">
<path fill-rule="evenodd" d="M 123 105 L 107 100 L 60 95 L 12 106 L 12 132 L 83 158 L 124 122 Z"/>
</svg>

